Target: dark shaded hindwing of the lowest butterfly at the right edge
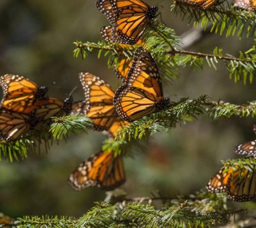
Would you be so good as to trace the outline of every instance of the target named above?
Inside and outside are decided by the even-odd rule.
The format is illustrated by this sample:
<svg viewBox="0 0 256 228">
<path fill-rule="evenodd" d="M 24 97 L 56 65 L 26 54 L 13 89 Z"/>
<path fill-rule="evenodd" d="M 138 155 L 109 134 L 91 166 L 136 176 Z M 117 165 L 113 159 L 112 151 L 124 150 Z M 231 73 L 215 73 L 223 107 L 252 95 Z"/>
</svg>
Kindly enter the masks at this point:
<svg viewBox="0 0 256 228">
<path fill-rule="evenodd" d="M 248 169 L 237 170 L 232 173 L 228 183 L 228 196 L 235 201 L 253 200 L 256 191 L 255 171 Z"/>
</svg>

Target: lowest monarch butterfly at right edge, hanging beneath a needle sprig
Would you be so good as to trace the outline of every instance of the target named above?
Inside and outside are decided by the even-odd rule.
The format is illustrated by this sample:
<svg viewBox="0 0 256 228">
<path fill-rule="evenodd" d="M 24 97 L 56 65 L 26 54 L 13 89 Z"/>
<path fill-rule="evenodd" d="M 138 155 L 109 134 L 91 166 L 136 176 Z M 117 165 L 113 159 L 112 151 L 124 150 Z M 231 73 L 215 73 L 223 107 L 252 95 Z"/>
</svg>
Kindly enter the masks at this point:
<svg viewBox="0 0 256 228">
<path fill-rule="evenodd" d="M 231 200 L 244 202 L 255 198 L 256 176 L 253 172 L 238 166 L 235 169 L 225 166 L 216 173 L 206 187 L 212 193 L 226 192 Z"/>
</svg>

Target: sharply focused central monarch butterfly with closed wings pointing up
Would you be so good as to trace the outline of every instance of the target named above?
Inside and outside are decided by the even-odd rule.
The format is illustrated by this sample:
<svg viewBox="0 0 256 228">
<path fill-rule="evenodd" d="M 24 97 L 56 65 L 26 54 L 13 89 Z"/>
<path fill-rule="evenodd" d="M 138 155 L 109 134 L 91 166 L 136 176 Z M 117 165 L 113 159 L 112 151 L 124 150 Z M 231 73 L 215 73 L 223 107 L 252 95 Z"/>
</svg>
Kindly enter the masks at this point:
<svg viewBox="0 0 256 228">
<path fill-rule="evenodd" d="M 147 50 L 136 50 L 127 82 L 118 88 L 113 103 L 118 115 L 127 122 L 161 111 L 170 103 L 169 98 L 163 98 L 161 78 Z"/>
</svg>

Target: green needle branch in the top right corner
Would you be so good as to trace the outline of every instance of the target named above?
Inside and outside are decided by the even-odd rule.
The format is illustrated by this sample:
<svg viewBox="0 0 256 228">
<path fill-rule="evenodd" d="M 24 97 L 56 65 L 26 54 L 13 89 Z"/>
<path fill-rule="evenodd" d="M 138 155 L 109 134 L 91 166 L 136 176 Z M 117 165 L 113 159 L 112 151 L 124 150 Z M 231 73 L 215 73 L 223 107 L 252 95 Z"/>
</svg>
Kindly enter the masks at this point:
<svg viewBox="0 0 256 228">
<path fill-rule="evenodd" d="M 207 28 L 211 26 L 210 31 L 224 35 L 226 37 L 246 37 L 255 36 L 256 15 L 253 11 L 237 10 L 235 8 L 224 8 L 223 6 L 211 7 L 208 10 L 199 10 L 198 7 L 192 6 L 185 1 L 176 0 L 172 10 L 176 15 L 183 15 L 190 22 L 194 21 L 194 26 Z"/>
</svg>

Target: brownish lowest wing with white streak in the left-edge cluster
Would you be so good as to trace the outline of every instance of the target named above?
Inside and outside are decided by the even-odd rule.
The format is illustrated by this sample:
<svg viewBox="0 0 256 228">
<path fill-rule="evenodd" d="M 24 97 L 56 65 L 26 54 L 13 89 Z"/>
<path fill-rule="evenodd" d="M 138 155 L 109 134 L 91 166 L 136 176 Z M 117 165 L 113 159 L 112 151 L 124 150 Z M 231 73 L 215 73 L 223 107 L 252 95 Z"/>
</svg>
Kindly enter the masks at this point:
<svg viewBox="0 0 256 228">
<path fill-rule="evenodd" d="M 0 112 L 0 141 L 9 142 L 17 140 L 30 129 L 30 117 L 24 113 L 13 111 Z"/>
</svg>

